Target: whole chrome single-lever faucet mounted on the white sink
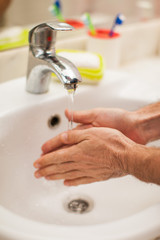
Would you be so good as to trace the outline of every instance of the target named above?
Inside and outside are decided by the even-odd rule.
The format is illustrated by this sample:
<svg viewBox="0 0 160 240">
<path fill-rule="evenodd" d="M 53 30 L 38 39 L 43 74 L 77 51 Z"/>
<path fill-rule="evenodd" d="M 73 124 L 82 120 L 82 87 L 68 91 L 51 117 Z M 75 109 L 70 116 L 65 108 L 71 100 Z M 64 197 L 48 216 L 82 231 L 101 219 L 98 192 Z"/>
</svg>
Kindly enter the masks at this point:
<svg viewBox="0 0 160 240">
<path fill-rule="evenodd" d="M 81 82 L 77 68 L 66 58 L 56 55 L 57 31 L 73 28 L 66 23 L 52 22 L 35 26 L 29 32 L 29 59 L 26 90 L 33 94 L 48 91 L 51 73 L 55 73 L 64 87 L 76 89 Z"/>
</svg>

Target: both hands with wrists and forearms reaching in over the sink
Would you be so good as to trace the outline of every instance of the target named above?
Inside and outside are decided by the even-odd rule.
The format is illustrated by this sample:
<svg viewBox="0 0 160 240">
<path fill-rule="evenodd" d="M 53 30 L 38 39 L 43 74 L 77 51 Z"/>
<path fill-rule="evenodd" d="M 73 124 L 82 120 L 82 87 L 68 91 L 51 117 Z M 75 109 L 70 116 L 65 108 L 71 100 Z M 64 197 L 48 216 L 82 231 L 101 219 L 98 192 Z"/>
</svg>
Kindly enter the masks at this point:
<svg viewBox="0 0 160 240">
<path fill-rule="evenodd" d="M 69 186 L 131 174 L 160 184 L 160 149 L 144 146 L 160 138 L 160 103 L 135 112 L 93 109 L 73 112 L 76 130 L 42 146 L 35 176 L 65 179 Z M 70 120 L 71 113 L 66 110 Z M 132 141 L 133 140 L 133 141 Z"/>
</svg>

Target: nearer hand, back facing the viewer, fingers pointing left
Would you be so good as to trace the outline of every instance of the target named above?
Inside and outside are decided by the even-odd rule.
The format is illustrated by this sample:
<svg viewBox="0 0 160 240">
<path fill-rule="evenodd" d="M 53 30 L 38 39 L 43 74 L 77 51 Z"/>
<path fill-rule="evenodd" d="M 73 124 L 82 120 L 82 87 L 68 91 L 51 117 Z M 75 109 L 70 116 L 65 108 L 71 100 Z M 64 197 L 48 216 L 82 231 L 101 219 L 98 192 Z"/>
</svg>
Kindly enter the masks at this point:
<svg viewBox="0 0 160 240">
<path fill-rule="evenodd" d="M 68 186 L 124 176 L 135 144 L 115 129 L 64 132 L 42 146 L 43 155 L 34 163 L 35 176 L 65 179 Z"/>
</svg>

